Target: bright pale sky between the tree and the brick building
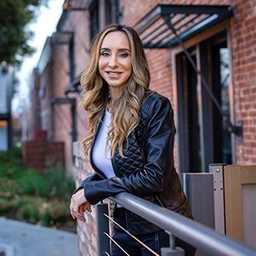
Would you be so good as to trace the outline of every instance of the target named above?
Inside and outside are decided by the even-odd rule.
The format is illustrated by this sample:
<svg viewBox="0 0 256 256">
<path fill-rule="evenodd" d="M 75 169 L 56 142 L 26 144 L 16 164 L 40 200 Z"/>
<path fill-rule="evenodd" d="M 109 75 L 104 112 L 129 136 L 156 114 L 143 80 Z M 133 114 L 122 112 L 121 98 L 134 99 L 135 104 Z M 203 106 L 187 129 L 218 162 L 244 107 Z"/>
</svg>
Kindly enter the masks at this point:
<svg viewBox="0 0 256 256">
<path fill-rule="evenodd" d="M 17 73 L 20 85 L 12 101 L 12 112 L 15 114 L 22 113 L 23 107 L 29 107 L 29 85 L 32 70 L 38 65 L 46 38 L 56 30 L 63 3 L 64 0 L 49 0 L 48 7 L 40 7 L 37 18 L 27 25 L 28 30 L 34 32 L 34 37 L 29 44 L 36 48 L 36 53 L 24 59 L 20 71 Z"/>
</svg>

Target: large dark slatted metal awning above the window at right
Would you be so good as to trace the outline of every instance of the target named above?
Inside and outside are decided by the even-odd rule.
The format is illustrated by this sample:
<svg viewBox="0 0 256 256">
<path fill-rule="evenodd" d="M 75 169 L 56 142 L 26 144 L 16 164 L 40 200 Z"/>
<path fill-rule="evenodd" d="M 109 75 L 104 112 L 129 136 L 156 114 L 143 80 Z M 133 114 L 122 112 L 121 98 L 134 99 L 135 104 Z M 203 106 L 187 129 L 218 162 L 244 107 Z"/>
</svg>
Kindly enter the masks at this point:
<svg viewBox="0 0 256 256">
<path fill-rule="evenodd" d="M 184 40 L 232 15 L 232 7 L 226 5 L 160 4 L 139 20 L 134 28 L 145 48 L 170 48 L 178 41 L 167 22 Z"/>
</svg>

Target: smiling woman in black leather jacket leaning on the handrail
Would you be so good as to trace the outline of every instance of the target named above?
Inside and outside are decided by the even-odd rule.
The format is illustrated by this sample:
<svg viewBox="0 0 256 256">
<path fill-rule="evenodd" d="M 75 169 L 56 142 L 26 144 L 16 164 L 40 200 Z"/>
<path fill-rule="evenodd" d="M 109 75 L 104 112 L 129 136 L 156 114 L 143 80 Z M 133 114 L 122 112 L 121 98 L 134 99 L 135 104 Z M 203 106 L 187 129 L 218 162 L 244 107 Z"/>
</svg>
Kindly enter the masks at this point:
<svg viewBox="0 0 256 256">
<path fill-rule="evenodd" d="M 79 184 L 71 199 L 73 218 L 85 221 L 90 205 L 129 192 L 191 217 L 173 161 L 175 126 L 169 100 L 148 90 L 148 62 L 140 38 L 131 27 L 107 26 L 97 35 L 83 73 L 84 109 L 89 136 L 84 155 L 95 173 Z M 155 252 L 169 246 L 164 230 L 115 207 L 113 218 Z M 124 221 L 126 220 L 126 221 Z M 113 239 L 130 255 L 152 255 L 126 233 L 113 227 Z M 195 249 L 177 239 L 177 246 Z M 112 243 L 111 255 L 123 255 Z"/>
</svg>

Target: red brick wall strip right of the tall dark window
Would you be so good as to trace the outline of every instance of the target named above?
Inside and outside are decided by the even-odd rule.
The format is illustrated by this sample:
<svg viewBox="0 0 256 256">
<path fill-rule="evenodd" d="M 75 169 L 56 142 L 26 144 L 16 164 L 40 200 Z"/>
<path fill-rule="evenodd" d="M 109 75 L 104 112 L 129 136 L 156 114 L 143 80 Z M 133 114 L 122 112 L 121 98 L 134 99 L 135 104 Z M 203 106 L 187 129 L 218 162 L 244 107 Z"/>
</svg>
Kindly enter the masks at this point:
<svg viewBox="0 0 256 256">
<path fill-rule="evenodd" d="M 236 1 L 231 20 L 236 119 L 243 124 L 237 143 L 237 164 L 256 163 L 256 7 L 255 1 Z"/>
</svg>

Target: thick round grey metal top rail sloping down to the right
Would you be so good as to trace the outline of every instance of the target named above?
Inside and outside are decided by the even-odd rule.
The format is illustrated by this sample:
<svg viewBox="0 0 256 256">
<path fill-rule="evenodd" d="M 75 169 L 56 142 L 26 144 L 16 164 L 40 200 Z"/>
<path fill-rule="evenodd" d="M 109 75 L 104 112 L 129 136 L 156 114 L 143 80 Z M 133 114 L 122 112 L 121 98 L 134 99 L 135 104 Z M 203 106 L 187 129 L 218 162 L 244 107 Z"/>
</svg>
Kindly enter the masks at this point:
<svg viewBox="0 0 256 256">
<path fill-rule="evenodd" d="M 241 242 L 135 195 L 122 192 L 109 199 L 207 254 L 255 256 L 256 252 Z"/>
</svg>

